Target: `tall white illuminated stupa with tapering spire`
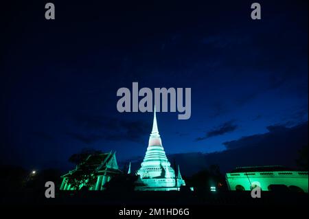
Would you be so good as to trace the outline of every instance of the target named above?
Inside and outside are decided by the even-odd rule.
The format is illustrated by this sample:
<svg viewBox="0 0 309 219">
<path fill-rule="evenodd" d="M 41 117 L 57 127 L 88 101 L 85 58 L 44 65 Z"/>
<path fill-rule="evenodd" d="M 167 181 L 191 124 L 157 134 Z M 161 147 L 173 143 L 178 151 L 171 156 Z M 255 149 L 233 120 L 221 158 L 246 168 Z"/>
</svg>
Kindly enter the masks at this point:
<svg viewBox="0 0 309 219">
<path fill-rule="evenodd" d="M 165 155 L 157 126 L 156 108 L 148 148 L 137 175 L 139 175 L 137 181 L 139 185 L 135 187 L 136 190 L 170 191 L 179 190 L 181 185 L 185 185 L 179 167 L 175 177 L 175 171 Z"/>
</svg>

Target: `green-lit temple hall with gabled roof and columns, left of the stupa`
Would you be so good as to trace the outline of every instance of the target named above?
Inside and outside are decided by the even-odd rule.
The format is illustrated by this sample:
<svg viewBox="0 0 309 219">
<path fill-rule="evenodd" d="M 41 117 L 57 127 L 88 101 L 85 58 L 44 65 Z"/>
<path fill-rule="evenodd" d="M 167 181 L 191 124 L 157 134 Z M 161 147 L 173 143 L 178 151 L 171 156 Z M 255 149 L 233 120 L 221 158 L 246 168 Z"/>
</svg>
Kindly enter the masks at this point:
<svg viewBox="0 0 309 219">
<path fill-rule="evenodd" d="M 78 176 L 83 172 L 91 173 L 94 183 L 89 187 L 89 190 L 104 190 L 104 185 L 113 178 L 113 176 L 122 174 L 117 165 L 116 153 L 92 154 L 87 159 L 76 166 L 75 170 L 71 170 L 67 174 L 61 176 L 62 184 L 60 190 L 74 190 L 72 185 L 68 183 L 68 178 Z M 79 189 L 83 184 L 81 183 Z"/>
</svg>

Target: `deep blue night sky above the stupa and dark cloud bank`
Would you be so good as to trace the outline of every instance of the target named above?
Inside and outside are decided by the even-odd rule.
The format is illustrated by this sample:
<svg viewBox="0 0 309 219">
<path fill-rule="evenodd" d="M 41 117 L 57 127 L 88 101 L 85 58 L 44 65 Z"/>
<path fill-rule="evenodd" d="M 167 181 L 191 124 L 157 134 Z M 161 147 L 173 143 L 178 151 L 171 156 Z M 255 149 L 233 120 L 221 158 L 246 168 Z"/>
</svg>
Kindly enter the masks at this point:
<svg viewBox="0 0 309 219">
<path fill-rule="evenodd" d="M 47 1 L 48 2 L 48 1 Z M 46 3 L 47 3 L 46 2 Z M 82 148 L 144 157 L 152 113 L 119 113 L 117 89 L 190 87 L 190 119 L 157 113 L 167 154 L 308 121 L 308 2 L 45 1 L 2 5 L 0 163 L 67 168 Z"/>
</svg>

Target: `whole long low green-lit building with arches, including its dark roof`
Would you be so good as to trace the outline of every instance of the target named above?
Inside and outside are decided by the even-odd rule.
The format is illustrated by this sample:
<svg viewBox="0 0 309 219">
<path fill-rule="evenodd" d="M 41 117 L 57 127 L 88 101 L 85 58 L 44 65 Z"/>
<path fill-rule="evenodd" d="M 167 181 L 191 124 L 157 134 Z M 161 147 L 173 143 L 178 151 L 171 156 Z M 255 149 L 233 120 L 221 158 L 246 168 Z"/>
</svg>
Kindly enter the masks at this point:
<svg viewBox="0 0 309 219">
<path fill-rule="evenodd" d="M 251 190 L 258 186 L 262 191 L 290 189 L 308 193 L 308 171 L 293 171 L 283 166 L 236 168 L 225 176 L 229 190 Z"/>
</svg>

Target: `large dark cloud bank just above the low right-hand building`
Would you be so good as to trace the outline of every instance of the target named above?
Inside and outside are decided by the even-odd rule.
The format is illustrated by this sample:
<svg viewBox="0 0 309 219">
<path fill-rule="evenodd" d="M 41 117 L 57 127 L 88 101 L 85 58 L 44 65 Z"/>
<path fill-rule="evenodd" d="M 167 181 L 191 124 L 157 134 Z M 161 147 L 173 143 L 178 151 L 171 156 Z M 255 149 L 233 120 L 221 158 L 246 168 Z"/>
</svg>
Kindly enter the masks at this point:
<svg viewBox="0 0 309 219">
<path fill-rule="evenodd" d="M 225 142 L 227 150 L 207 154 L 208 163 L 218 163 L 221 170 L 237 166 L 285 165 L 295 168 L 301 147 L 308 145 L 308 122 L 285 128 L 269 126 L 269 132 Z M 275 128 L 274 128 L 275 127 Z"/>
</svg>

